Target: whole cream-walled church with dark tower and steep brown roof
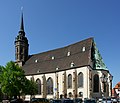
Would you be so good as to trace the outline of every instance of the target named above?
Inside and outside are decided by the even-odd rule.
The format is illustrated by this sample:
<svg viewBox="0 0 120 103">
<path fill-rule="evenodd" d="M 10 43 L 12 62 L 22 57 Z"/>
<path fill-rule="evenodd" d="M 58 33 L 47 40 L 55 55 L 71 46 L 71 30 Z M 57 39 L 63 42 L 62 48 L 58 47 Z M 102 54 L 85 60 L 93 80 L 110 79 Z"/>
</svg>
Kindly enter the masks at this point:
<svg viewBox="0 0 120 103">
<path fill-rule="evenodd" d="M 15 62 L 27 79 L 37 83 L 40 98 L 110 97 L 112 75 L 106 67 L 94 38 L 58 49 L 29 55 L 23 14 L 15 38 Z M 30 96 L 26 95 L 26 99 Z"/>
</svg>

